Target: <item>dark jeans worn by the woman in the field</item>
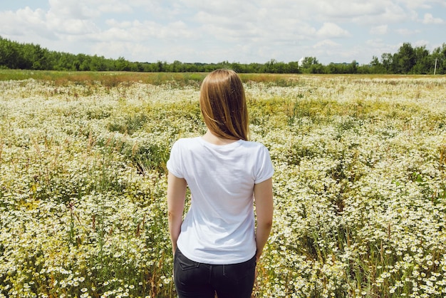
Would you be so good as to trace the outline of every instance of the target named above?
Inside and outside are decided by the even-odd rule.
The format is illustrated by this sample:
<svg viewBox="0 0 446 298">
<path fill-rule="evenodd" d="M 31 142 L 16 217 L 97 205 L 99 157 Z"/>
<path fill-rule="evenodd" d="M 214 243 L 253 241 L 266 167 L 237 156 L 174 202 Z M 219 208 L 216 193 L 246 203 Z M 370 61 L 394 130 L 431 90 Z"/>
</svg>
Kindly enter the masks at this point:
<svg viewBox="0 0 446 298">
<path fill-rule="evenodd" d="M 256 256 L 239 264 L 213 265 L 187 259 L 177 249 L 174 282 L 178 297 L 249 298 L 254 287 Z"/>
</svg>

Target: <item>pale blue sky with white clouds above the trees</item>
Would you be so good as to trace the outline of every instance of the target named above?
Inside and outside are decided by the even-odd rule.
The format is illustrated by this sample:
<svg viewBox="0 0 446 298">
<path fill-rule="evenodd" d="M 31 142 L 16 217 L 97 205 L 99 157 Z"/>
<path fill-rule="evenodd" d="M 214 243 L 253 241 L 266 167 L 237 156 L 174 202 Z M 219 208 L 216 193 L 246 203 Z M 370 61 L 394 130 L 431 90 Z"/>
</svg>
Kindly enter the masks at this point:
<svg viewBox="0 0 446 298">
<path fill-rule="evenodd" d="M 135 62 L 368 64 L 446 43 L 446 0 L 2 0 L 0 36 Z"/>
</svg>

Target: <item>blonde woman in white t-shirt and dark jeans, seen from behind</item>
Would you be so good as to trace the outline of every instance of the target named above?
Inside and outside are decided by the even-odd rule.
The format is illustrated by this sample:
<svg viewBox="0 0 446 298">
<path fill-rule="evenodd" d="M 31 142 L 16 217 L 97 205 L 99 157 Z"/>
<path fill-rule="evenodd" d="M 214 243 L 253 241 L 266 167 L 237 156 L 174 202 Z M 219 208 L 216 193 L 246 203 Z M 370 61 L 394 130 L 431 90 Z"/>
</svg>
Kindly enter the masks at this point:
<svg viewBox="0 0 446 298">
<path fill-rule="evenodd" d="M 271 158 L 264 145 L 248 141 L 237 73 L 209 73 L 199 103 L 207 133 L 177 140 L 167 161 L 175 288 L 180 298 L 251 297 L 272 225 Z M 183 221 L 187 187 L 192 199 Z"/>
</svg>

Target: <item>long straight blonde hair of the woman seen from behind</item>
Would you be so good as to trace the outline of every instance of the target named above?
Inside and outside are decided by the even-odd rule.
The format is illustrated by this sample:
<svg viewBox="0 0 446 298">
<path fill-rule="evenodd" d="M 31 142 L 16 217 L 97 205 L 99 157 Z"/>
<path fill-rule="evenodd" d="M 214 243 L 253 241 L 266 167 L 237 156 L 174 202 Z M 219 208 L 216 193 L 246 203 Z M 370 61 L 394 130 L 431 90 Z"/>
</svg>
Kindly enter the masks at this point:
<svg viewBox="0 0 446 298">
<path fill-rule="evenodd" d="M 242 80 L 235 71 L 217 69 L 204 78 L 199 106 L 207 128 L 221 138 L 248 140 L 248 109 Z"/>
</svg>

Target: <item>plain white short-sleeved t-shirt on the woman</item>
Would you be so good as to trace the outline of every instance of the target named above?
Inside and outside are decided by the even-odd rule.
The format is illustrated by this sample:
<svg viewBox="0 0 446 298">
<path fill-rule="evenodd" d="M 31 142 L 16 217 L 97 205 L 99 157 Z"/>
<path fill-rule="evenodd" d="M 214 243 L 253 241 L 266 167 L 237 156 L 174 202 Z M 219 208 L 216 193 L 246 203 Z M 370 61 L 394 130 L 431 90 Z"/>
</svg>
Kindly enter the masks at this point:
<svg viewBox="0 0 446 298">
<path fill-rule="evenodd" d="M 195 262 L 237 264 L 255 255 L 254 184 L 272 177 L 268 149 L 237 140 L 214 145 L 182 138 L 172 146 L 167 169 L 184 178 L 192 194 L 177 247 Z"/>
</svg>

